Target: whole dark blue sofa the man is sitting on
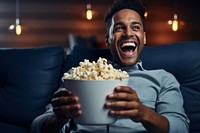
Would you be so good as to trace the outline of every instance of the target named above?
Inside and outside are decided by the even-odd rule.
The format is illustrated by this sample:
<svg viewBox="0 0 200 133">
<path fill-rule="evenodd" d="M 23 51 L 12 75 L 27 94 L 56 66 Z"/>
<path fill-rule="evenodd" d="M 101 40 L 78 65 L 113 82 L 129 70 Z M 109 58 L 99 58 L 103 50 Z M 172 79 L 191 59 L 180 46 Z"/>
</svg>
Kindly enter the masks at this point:
<svg viewBox="0 0 200 133">
<path fill-rule="evenodd" d="M 87 58 L 110 59 L 108 49 L 75 46 L 65 59 L 60 46 L 0 49 L 0 133 L 29 133 L 32 120 L 45 111 L 63 70 Z M 200 41 L 145 47 L 144 68 L 165 69 L 178 79 L 191 121 L 200 133 Z"/>
</svg>

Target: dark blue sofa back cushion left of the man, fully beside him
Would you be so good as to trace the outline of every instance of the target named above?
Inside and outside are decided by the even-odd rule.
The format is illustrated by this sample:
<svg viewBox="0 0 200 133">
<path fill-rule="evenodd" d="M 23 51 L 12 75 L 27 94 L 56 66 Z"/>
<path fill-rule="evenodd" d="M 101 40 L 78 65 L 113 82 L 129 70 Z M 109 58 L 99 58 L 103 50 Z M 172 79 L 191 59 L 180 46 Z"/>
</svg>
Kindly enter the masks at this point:
<svg viewBox="0 0 200 133">
<path fill-rule="evenodd" d="M 29 126 L 45 111 L 59 87 L 64 55 L 61 46 L 0 49 L 0 123 Z"/>
</svg>

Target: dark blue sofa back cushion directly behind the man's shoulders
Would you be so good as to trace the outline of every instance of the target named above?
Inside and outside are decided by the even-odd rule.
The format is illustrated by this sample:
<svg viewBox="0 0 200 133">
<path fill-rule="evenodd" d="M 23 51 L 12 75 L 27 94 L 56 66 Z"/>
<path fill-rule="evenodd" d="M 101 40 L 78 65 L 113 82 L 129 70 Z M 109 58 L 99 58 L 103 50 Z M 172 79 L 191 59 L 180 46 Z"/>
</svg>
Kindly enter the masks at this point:
<svg viewBox="0 0 200 133">
<path fill-rule="evenodd" d="M 75 46 L 67 56 L 65 70 L 78 66 L 83 59 L 111 59 L 109 49 Z M 181 85 L 184 108 L 191 121 L 190 132 L 200 132 L 200 41 L 146 46 L 141 53 L 145 69 L 165 69 Z"/>
</svg>

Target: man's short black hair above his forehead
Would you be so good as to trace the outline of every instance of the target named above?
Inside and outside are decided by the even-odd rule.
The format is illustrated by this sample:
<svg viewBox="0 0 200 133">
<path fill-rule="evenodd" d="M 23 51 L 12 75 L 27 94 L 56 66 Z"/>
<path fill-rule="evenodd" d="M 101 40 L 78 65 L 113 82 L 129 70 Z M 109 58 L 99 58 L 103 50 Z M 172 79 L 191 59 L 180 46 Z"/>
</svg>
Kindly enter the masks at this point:
<svg viewBox="0 0 200 133">
<path fill-rule="evenodd" d="M 107 25 L 107 28 L 110 26 L 112 16 L 122 9 L 131 9 L 136 11 L 140 15 L 142 23 L 144 25 L 144 14 L 147 11 L 147 9 L 140 0 L 115 0 L 115 2 L 108 9 L 105 15 L 105 23 Z"/>
</svg>

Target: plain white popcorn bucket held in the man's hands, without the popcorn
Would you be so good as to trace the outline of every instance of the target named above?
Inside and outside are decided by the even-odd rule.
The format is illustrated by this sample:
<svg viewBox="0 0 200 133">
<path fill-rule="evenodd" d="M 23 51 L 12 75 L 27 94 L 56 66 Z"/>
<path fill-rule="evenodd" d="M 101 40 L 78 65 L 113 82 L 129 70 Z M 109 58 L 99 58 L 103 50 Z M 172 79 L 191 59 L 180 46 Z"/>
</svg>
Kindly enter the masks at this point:
<svg viewBox="0 0 200 133">
<path fill-rule="evenodd" d="M 82 114 L 74 122 L 84 125 L 106 125 L 114 123 L 116 116 L 109 115 L 105 107 L 106 97 L 116 86 L 127 86 L 128 80 L 69 80 L 64 79 L 65 88 L 79 97 Z"/>
</svg>

